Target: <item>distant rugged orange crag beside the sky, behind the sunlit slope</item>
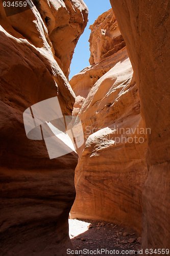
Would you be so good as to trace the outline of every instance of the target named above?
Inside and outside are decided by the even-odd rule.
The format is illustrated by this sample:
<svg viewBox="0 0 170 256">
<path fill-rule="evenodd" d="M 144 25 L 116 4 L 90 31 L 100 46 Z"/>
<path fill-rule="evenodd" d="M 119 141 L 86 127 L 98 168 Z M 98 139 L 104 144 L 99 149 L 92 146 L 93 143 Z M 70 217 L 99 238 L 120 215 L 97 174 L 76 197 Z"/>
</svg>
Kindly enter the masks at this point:
<svg viewBox="0 0 170 256">
<path fill-rule="evenodd" d="M 127 56 L 125 41 L 115 15 L 110 9 L 90 26 L 90 65 L 70 80 L 76 94 L 74 114 L 77 115 L 94 83 L 107 73 L 118 60 Z M 122 51 L 118 51 L 122 49 Z M 114 54 L 113 54 L 114 53 Z"/>
</svg>

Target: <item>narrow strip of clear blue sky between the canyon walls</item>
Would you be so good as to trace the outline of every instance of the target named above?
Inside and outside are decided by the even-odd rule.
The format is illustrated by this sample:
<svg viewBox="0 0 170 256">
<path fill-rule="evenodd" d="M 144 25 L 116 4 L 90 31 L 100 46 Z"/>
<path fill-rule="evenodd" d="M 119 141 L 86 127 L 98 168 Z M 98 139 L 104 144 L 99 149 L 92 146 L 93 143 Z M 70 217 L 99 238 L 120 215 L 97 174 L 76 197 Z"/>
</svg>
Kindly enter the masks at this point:
<svg viewBox="0 0 170 256">
<path fill-rule="evenodd" d="M 109 0 L 84 0 L 84 2 L 89 9 L 88 24 L 76 46 L 75 53 L 71 61 L 69 79 L 90 65 L 88 61 L 90 57 L 88 42 L 90 37 L 89 26 L 94 23 L 94 20 L 98 18 L 100 14 L 111 8 Z"/>
</svg>

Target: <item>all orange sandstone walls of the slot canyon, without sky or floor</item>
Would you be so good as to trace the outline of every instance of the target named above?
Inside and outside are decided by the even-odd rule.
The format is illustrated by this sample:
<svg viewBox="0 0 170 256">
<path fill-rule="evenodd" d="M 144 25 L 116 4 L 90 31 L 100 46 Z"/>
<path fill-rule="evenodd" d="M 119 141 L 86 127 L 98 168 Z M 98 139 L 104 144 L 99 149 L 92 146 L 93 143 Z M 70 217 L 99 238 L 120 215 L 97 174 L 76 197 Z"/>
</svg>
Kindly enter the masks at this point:
<svg viewBox="0 0 170 256">
<path fill-rule="evenodd" d="M 168 249 L 170 1 L 110 0 L 90 25 L 90 66 L 70 80 L 86 1 L 26 3 L 0 3 L 0 255 L 66 256 L 68 218 L 133 229 L 142 255 Z M 50 159 L 23 112 L 56 96 L 84 143 Z"/>
</svg>

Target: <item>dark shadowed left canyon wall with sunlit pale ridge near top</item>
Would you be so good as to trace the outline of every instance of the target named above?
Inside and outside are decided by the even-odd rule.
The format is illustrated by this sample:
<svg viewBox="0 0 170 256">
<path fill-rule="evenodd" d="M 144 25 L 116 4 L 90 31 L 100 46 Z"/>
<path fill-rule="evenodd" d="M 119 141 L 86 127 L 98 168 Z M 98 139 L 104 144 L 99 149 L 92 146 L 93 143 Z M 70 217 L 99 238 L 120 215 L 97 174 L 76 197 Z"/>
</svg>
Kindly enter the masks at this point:
<svg viewBox="0 0 170 256">
<path fill-rule="evenodd" d="M 58 96 L 63 115 L 75 102 L 67 76 L 87 23 L 82 0 L 0 3 L 0 254 L 66 255 L 68 214 L 78 157 L 50 160 L 43 141 L 29 140 L 22 113 Z"/>
</svg>

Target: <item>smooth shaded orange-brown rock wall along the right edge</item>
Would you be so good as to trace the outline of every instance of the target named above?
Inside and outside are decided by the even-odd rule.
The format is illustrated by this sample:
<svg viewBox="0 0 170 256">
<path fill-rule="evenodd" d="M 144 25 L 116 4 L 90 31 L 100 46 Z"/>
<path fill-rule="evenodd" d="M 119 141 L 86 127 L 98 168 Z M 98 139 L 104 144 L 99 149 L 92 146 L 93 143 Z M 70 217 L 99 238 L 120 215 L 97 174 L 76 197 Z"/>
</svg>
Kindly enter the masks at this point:
<svg viewBox="0 0 170 256">
<path fill-rule="evenodd" d="M 143 190 L 143 248 L 170 244 L 169 1 L 111 0 L 139 86 L 148 134 Z"/>
</svg>

